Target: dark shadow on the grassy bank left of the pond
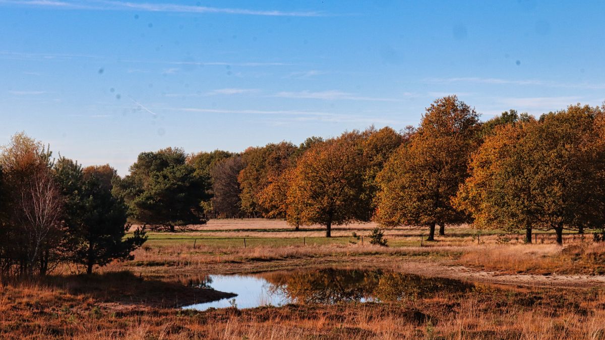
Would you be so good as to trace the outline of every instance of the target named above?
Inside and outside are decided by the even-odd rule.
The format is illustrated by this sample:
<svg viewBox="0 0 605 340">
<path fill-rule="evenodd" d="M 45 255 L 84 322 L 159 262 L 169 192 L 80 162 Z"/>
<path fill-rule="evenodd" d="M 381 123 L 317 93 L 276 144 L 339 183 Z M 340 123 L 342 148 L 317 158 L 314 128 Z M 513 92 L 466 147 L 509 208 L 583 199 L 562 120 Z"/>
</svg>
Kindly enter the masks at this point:
<svg viewBox="0 0 605 340">
<path fill-rule="evenodd" d="M 185 286 L 178 281 L 142 278 L 131 272 L 92 275 L 53 275 L 44 283 L 74 295 L 126 306 L 175 308 L 235 296 L 218 290 Z"/>
</svg>

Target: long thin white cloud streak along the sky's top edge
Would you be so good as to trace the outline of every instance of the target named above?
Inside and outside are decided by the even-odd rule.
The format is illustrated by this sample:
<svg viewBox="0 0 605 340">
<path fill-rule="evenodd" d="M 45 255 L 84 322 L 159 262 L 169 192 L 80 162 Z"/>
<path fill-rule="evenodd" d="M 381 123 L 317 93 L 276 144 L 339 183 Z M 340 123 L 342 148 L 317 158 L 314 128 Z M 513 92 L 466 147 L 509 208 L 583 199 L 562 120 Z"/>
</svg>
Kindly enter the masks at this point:
<svg viewBox="0 0 605 340">
<path fill-rule="evenodd" d="M 0 4 L 24 5 L 31 7 L 65 8 L 71 10 L 137 10 L 152 12 L 198 13 L 198 14 L 227 14 L 227 15 L 257 15 L 257 16 L 325 16 L 318 11 L 279 11 L 279 10 L 250 10 L 247 8 L 206 7 L 181 4 L 160 4 L 126 1 L 50 1 L 50 0 L 0 0 Z"/>
</svg>

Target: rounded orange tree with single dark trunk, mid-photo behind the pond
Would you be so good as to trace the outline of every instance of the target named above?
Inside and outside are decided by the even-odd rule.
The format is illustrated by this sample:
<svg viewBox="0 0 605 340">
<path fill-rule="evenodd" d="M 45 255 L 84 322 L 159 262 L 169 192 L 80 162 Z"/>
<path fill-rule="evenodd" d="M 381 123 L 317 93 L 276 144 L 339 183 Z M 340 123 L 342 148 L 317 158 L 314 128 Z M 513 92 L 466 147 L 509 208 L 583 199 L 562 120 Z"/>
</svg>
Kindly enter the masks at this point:
<svg viewBox="0 0 605 340">
<path fill-rule="evenodd" d="M 331 237 L 333 224 L 362 220 L 365 160 L 359 140 L 347 134 L 307 150 L 293 170 L 288 198 L 299 209 L 300 224 L 322 224 Z"/>
</svg>

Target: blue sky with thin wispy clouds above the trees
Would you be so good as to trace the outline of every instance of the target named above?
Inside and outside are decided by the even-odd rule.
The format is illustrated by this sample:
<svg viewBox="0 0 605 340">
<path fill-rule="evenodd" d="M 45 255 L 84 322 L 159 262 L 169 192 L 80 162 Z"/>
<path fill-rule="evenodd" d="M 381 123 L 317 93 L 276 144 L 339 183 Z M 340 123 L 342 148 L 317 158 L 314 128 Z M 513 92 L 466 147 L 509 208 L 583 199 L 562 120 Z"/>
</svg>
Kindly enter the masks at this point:
<svg viewBox="0 0 605 340">
<path fill-rule="evenodd" d="M 605 99 L 602 1 L 0 0 L 0 144 L 226 149 Z"/>
</svg>

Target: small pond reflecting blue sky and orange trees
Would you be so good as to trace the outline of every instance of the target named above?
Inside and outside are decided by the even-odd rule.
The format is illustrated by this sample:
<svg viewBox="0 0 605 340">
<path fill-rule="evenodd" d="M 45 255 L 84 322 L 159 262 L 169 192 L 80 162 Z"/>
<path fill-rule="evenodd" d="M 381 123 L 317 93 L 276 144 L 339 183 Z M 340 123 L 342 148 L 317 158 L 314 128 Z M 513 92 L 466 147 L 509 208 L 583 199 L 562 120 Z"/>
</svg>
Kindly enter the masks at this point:
<svg viewBox="0 0 605 340">
<path fill-rule="evenodd" d="M 201 289 L 235 293 L 221 299 L 183 307 L 209 308 L 384 302 L 425 298 L 442 292 L 467 292 L 474 285 L 446 278 L 359 269 L 299 269 L 247 275 L 208 275 L 191 283 Z"/>
</svg>

